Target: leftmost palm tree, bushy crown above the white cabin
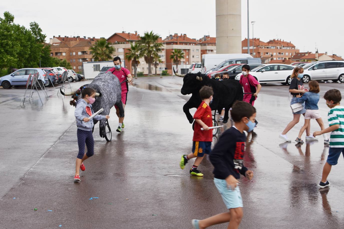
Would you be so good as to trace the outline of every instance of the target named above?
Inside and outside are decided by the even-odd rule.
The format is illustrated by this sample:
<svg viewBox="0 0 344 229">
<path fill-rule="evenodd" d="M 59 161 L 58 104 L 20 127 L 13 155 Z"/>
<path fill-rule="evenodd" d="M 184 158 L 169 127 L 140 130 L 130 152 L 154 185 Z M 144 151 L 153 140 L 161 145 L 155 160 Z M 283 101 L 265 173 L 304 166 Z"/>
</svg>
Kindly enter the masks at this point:
<svg viewBox="0 0 344 229">
<path fill-rule="evenodd" d="M 105 38 L 100 38 L 92 47 L 89 48 L 92 52 L 92 58 L 94 61 L 111 60 L 112 53 L 114 53 L 114 47 L 110 46 L 106 42 Z"/>
</svg>

